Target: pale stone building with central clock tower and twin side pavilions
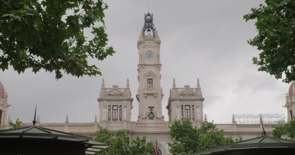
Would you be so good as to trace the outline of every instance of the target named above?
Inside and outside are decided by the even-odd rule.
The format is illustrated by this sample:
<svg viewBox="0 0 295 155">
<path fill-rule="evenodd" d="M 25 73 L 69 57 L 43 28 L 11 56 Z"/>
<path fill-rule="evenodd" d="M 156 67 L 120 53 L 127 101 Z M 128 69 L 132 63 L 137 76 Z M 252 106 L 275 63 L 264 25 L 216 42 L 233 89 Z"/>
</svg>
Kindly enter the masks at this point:
<svg viewBox="0 0 295 155">
<path fill-rule="evenodd" d="M 108 128 L 110 131 L 125 130 L 131 139 L 136 136 L 146 136 L 147 140 L 157 139 L 162 155 L 169 155 L 168 142 L 171 140 L 169 126 L 175 120 L 189 119 L 191 122 L 200 126 L 207 121 L 203 112 L 204 97 L 201 92 L 199 79 L 196 86 L 185 85 L 177 87 L 173 79 L 172 88 L 168 98 L 166 109 L 168 117 L 164 120 L 162 114 L 163 89 L 161 87 L 161 40 L 153 23 L 153 15 L 145 15 L 145 23 L 141 35 L 137 42 L 138 48 L 138 82 L 139 87 L 136 99 L 139 102 L 139 115 L 136 122 L 131 122 L 131 109 L 133 98 L 131 96 L 129 80 L 125 87 L 105 87 L 104 79 L 101 83 L 101 91 L 98 97 L 99 120 L 97 116 L 92 123 L 69 123 L 66 116 L 65 123 L 40 123 L 39 117 L 37 124 L 42 127 L 54 130 L 80 134 L 93 137 L 98 131 L 98 125 Z M 0 83 L 0 118 L 1 125 L 7 125 L 7 95 Z M 293 82 L 287 94 L 285 107 L 288 109 L 288 120 L 291 120 L 295 111 L 295 83 Z M 204 118 L 203 118 L 204 117 Z M 31 123 L 24 123 L 22 126 L 29 126 Z M 262 125 L 239 124 L 233 115 L 231 124 L 215 124 L 217 128 L 223 129 L 226 136 L 233 138 L 243 137 L 244 140 L 260 136 Z M 268 134 L 271 134 L 273 125 L 264 124 Z M 6 126 L 7 127 L 7 126 Z"/>
</svg>

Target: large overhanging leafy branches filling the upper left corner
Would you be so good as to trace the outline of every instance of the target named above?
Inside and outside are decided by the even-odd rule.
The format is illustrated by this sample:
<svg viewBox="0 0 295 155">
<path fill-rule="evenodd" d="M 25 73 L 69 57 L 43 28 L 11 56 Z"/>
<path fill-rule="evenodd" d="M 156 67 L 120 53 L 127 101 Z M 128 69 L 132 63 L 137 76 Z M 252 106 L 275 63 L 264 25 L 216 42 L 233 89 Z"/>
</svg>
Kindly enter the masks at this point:
<svg viewBox="0 0 295 155">
<path fill-rule="evenodd" d="M 80 77 L 101 75 L 91 59 L 115 51 L 107 47 L 103 0 L 0 0 L 0 69 L 32 68 Z M 100 27 L 94 27 L 94 24 Z M 84 30 L 92 30 L 86 38 Z"/>
</svg>

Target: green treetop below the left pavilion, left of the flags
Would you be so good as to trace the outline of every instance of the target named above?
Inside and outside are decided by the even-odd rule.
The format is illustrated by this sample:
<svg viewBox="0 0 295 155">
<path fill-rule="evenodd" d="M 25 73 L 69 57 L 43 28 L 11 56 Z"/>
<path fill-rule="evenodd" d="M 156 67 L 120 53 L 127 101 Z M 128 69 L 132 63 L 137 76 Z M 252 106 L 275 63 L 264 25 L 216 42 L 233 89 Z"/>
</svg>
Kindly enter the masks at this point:
<svg viewBox="0 0 295 155">
<path fill-rule="evenodd" d="M 153 155 L 155 152 L 151 142 L 147 142 L 145 137 L 136 137 L 135 140 L 130 140 L 125 131 L 114 133 L 99 126 L 95 136 L 96 141 L 110 145 L 98 155 Z"/>
</svg>

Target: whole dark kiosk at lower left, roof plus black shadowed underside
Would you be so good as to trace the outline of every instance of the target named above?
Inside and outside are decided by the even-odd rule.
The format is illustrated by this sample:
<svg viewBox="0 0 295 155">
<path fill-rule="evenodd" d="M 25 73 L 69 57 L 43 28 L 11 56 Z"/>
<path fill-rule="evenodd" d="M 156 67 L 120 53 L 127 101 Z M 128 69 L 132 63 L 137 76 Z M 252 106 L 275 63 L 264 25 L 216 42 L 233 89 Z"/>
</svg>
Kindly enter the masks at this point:
<svg viewBox="0 0 295 155">
<path fill-rule="evenodd" d="M 28 151 L 30 151 L 30 148 L 27 147 L 37 146 L 41 143 L 47 145 L 42 146 L 43 149 L 45 149 L 45 154 L 46 151 L 51 151 L 51 154 L 54 150 L 60 152 L 63 148 L 63 145 L 65 146 L 65 149 L 62 150 L 64 153 L 67 151 L 73 151 L 80 147 L 79 151 L 75 151 L 77 152 L 77 154 L 74 155 L 94 155 L 95 153 L 98 153 L 99 151 L 108 147 L 107 144 L 95 142 L 92 140 L 93 139 L 89 137 L 69 134 L 66 132 L 51 130 L 39 126 L 29 126 L 16 129 L 0 130 L 1 148 L 4 148 L 2 147 L 3 145 L 8 146 L 10 147 L 11 152 L 15 151 L 14 149 L 19 149 L 19 151 L 24 150 L 23 152 L 28 153 Z M 11 144 L 9 143 L 13 143 L 13 146 L 11 146 Z M 32 143 L 32 145 L 29 145 L 29 143 Z M 32 151 L 34 151 L 38 148 L 34 147 L 31 149 Z M 0 153 L 2 151 L 3 149 L 0 149 Z M 9 149 L 6 149 L 6 151 L 9 151 Z M 8 154 L 8 152 L 5 153 Z M 42 154 L 44 155 L 44 153 Z M 26 155 L 26 153 L 24 153 L 23 155 Z"/>
</svg>

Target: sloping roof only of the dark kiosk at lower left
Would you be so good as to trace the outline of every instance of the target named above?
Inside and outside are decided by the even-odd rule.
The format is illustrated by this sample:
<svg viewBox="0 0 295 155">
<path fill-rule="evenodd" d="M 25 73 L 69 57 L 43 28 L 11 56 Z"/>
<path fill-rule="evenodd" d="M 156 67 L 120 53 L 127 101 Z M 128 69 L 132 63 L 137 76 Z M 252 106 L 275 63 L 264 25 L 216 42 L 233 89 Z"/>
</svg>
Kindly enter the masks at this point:
<svg viewBox="0 0 295 155">
<path fill-rule="evenodd" d="M 0 130 L 0 140 L 5 139 L 54 139 L 85 144 L 85 155 L 94 155 L 109 145 L 93 141 L 92 138 L 51 130 L 39 126 Z"/>
</svg>

